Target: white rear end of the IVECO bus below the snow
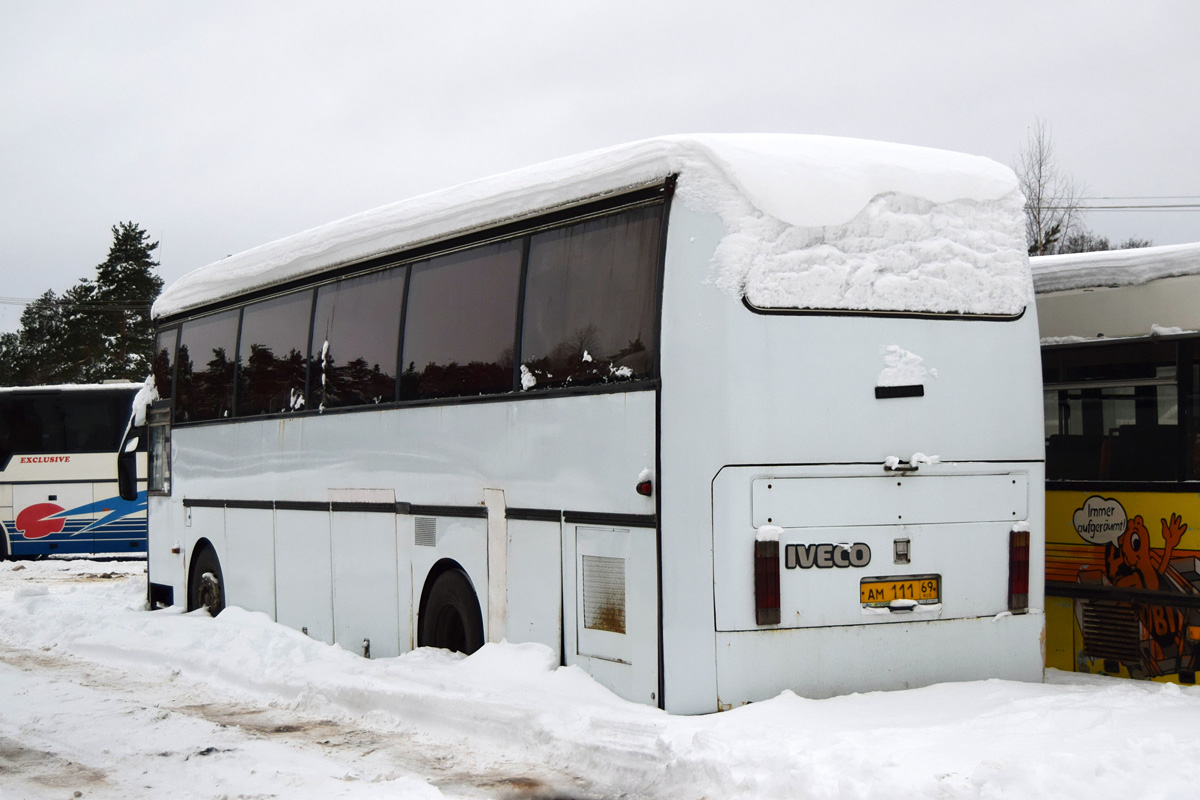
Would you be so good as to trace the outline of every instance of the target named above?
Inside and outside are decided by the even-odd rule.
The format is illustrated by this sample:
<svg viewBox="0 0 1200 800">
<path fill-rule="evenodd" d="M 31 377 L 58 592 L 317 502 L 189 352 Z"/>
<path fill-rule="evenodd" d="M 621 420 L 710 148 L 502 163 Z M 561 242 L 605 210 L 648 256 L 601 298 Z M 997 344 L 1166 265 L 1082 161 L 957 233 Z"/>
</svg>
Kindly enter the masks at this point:
<svg viewBox="0 0 1200 800">
<path fill-rule="evenodd" d="M 763 699 L 782 688 L 824 694 L 833 685 L 830 672 L 838 670 L 841 673 L 835 682 L 842 691 L 869 685 L 905 686 L 917 675 L 924 676 L 922 682 L 996 674 L 1040 679 L 1040 613 L 1009 624 L 1014 630 L 1008 643 L 1012 646 L 941 656 L 959 648 L 964 631 L 977 630 L 978 638 L 986 639 L 997 630 L 991 615 L 1007 607 L 1012 522 L 1025 522 L 1032 531 L 1030 606 L 1042 608 L 1042 398 L 1038 329 L 1032 309 L 1008 321 L 755 313 L 708 279 L 724 233 L 715 217 L 689 210 L 683 203 L 672 205 L 661 338 L 662 616 L 667 620 L 662 657 L 667 710 L 713 711 L 718 696 L 721 704 L 730 704 Z M 892 347 L 923 359 L 923 397 L 876 398 L 875 387 Z M 881 625 L 875 615 L 862 614 L 857 602 L 857 584 L 863 575 L 851 578 L 847 571 L 822 570 L 823 575 L 814 578 L 822 583 L 804 589 L 805 597 L 828 594 L 833 599 L 848 593 L 840 610 L 835 606 L 821 612 L 829 626 L 761 630 L 748 625 L 755 612 L 755 481 L 776 474 L 882 479 L 889 456 L 907 462 L 917 453 L 946 462 L 922 467 L 919 480 L 965 473 L 980 476 L 982 483 L 964 498 L 944 497 L 942 503 L 948 513 L 943 519 L 992 518 L 973 522 L 961 534 L 978 540 L 977 560 L 986 561 L 982 567 L 966 567 L 966 561 L 973 561 L 967 555 L 971 548 L 948 529 L 932 537 L 926 537 L 925 530 L 920 535 L 912 531 L 912 540 L 918 557 L 942 565 L 943 613 L 958 607 L 962 614 L 986 616 L 922 622 L 889 619 L 889 625 Z M 749 469 L 731 471 L 743 467 Z M 803 469 L 793 469 L 799 467 Z M 814 471 L 805 473 L 809 467 Z M 1007 474 L 1013 474 L 1009 480 L 1018 480 L 1018 485 L 1003 488 L 998 498 L 985 498 L 986 487 L 995 483 L 1000 488 L 997 476 Z M 739 482 L 731 482 L 734 475 L 740 476 Z M 917 486 L 916 481 L 912 486 Z M 930 491 L 920 503 L 913 501 L 928 512 L 924 516 L 931 523 L 940 513 L 942 488 Z M 812 517 L 799 507 L 804 493 L 792 493 L 780 506 L 785 518 L 791 519 L 785 525 L 832 528 L 848 521 L 864 525 L 860 530 L 865 531 L 865 525 L 880 522 L 877 509 L 869 504 L 856 507 L 856 497 L 862 495 L 858 489 L 834 489 L 827 483 L 822 492 L 829 495 L 829 503 Z M 982 510 L 971 511 L 976 506 Z M 995 519 L 1002 511 L 1004 522 Z M 767 516 L 762 515 L 763 519 Z M 936 524 L 928 529 L 938 530 Z M 785 528 L 781 545 L 802 541 L 797 530 Z M 848 537 L 842 531 L 836 536 L 832 530 L 826 533 L 834 542 Z M 886 555 L 890 561 L 898 534 L 881 529 L 874 535 L 884 551 L 878 558 Z M 787 587 L 792 576 L 782 564 L 781 572 L 781 587 Z M 888 573 L 910 571 L 889 569 Z M 979 581 L 986 587 L 986 600 L 970 594 L 952 599 L 952 593 L 962 591 L 966 582 Z M 794 595 L 794 585 L 792 591 L 791 602 L 798 607 L 802 599 Z M 919 639 L 925 652 L 904 676 L 896 673 L 892 681 L 875 682 L 871 663 L 852 657 L 853 649 L 839 656 L 836 663 L 828 656 L 823 661 L 794 658 L 798 652 L 833 652 L 838 642 L 862 642 L 864 648 L 874 643 L 883 651 L 878 643 L 901 637 L 900 632 L 911 627 L 920 631 L 911 638 Z M 730 632 L 719 634 L 718 628 Z M 734 632 L 739 628 L 752 632 Z M 751 645 L 763 640 L 772 644 Z"/>
</svg>

